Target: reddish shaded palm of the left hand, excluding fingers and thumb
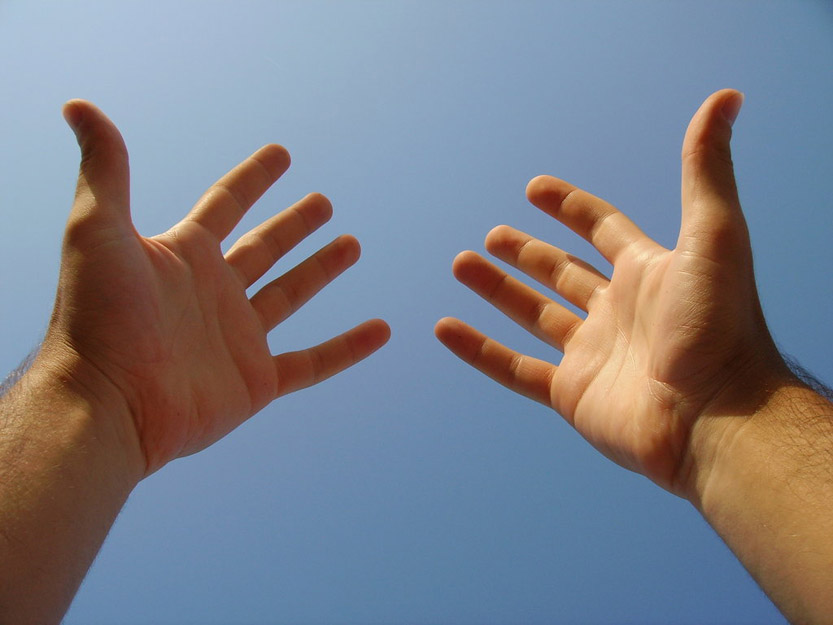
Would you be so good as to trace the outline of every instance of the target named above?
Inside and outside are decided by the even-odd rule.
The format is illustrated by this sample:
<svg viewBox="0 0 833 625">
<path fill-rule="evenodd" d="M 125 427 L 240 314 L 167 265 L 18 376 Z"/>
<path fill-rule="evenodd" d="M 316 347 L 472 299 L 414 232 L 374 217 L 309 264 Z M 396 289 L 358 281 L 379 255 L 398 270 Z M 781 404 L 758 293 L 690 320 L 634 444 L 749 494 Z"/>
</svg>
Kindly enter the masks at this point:
<svg viewBox="0 0 833 625">
<path fill-rule="evenodd" d="M 76 349 L 129 398 L 146 455 L 198 451 L 275 397 L 265 330 L 210 234 L 186 223 L 94 249 L 79 282 L 113 296 L 78 311 Z"/>
</svg>

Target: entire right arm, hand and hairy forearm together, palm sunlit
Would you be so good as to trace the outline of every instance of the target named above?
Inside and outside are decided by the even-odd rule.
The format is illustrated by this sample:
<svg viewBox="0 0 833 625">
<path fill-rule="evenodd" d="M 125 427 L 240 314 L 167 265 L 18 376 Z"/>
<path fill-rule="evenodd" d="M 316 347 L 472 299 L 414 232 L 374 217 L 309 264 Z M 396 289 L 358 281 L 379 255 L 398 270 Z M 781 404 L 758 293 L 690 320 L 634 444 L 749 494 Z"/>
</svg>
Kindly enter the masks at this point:
<svg viewBox="0 0 833 625">
<path fill-rule="evenodd" d="M 689 125 L 674 249 L 550 176 L 529 183 L 528 199 L 592 243 L 613 266 L 609 278 L 509 226 L 488 234 L 490 254 L 585 315 L 475 252 L 455 259 L 457 279 L 561 352 L 557 365 L 457 319 L 435 331 L 465 362 L 552 407 L 607 457 L 689 499 L 793 622 L 826 623 L 833 405 L 791 373 L 761 312 L 729 145 L 742 101 L 736 91 L 715 93 Z"/>
</svg>

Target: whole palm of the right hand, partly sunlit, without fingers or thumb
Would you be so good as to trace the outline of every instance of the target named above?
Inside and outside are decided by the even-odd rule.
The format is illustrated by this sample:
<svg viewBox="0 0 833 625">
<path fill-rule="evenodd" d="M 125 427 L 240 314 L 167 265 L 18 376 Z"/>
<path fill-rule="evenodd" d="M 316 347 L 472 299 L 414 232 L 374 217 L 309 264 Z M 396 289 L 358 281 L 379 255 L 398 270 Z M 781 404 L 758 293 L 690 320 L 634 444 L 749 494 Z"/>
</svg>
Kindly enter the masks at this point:
<svg viewBox="0 0 833 625">
<path fill-rule="evenodd" d="M 597 448 L 668 487 L 724 365 L 708 347 L 722 345 L 721 337 L 692 331 L 721 314 L 694 264 L 661 248 L 620 259 L 551 387 L 553 408 Z M 695 293 L 701 301 L 692 301 Z"/>
</svg>

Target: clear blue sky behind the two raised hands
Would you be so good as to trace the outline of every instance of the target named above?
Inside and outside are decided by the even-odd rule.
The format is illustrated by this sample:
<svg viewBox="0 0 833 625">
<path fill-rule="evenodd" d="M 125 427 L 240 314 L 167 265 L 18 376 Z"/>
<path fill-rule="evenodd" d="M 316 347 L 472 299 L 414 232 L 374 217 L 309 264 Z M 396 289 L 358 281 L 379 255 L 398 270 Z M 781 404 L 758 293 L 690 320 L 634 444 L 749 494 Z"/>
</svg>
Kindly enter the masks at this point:
<svg viewBox="0 0 833 625">
<path fill-rule="evenodd" d="M 143 482 L 68 625 L 784 622 L 689 504 L 432 327 L 458 316 L 557 359 L 456 284 L 454 255 L 508 223 L 604 267 L 525 202 L 539 173 L 673 244 L 686 124 L 734 87 L 767 319 L 833 380 L 829 1 L 0 0 L 0 58 L 4 371 L 49 317 L 72 97 L 121 128 L 143 234 L 267 142 L 293 166 L 243 228 L 330 197 L 332 222 L 289 262 L 342 232 L 363 258 L 274 331 L 276 351 L 373 316 L 393 329 L 370 360 Z"/>
</svg>

